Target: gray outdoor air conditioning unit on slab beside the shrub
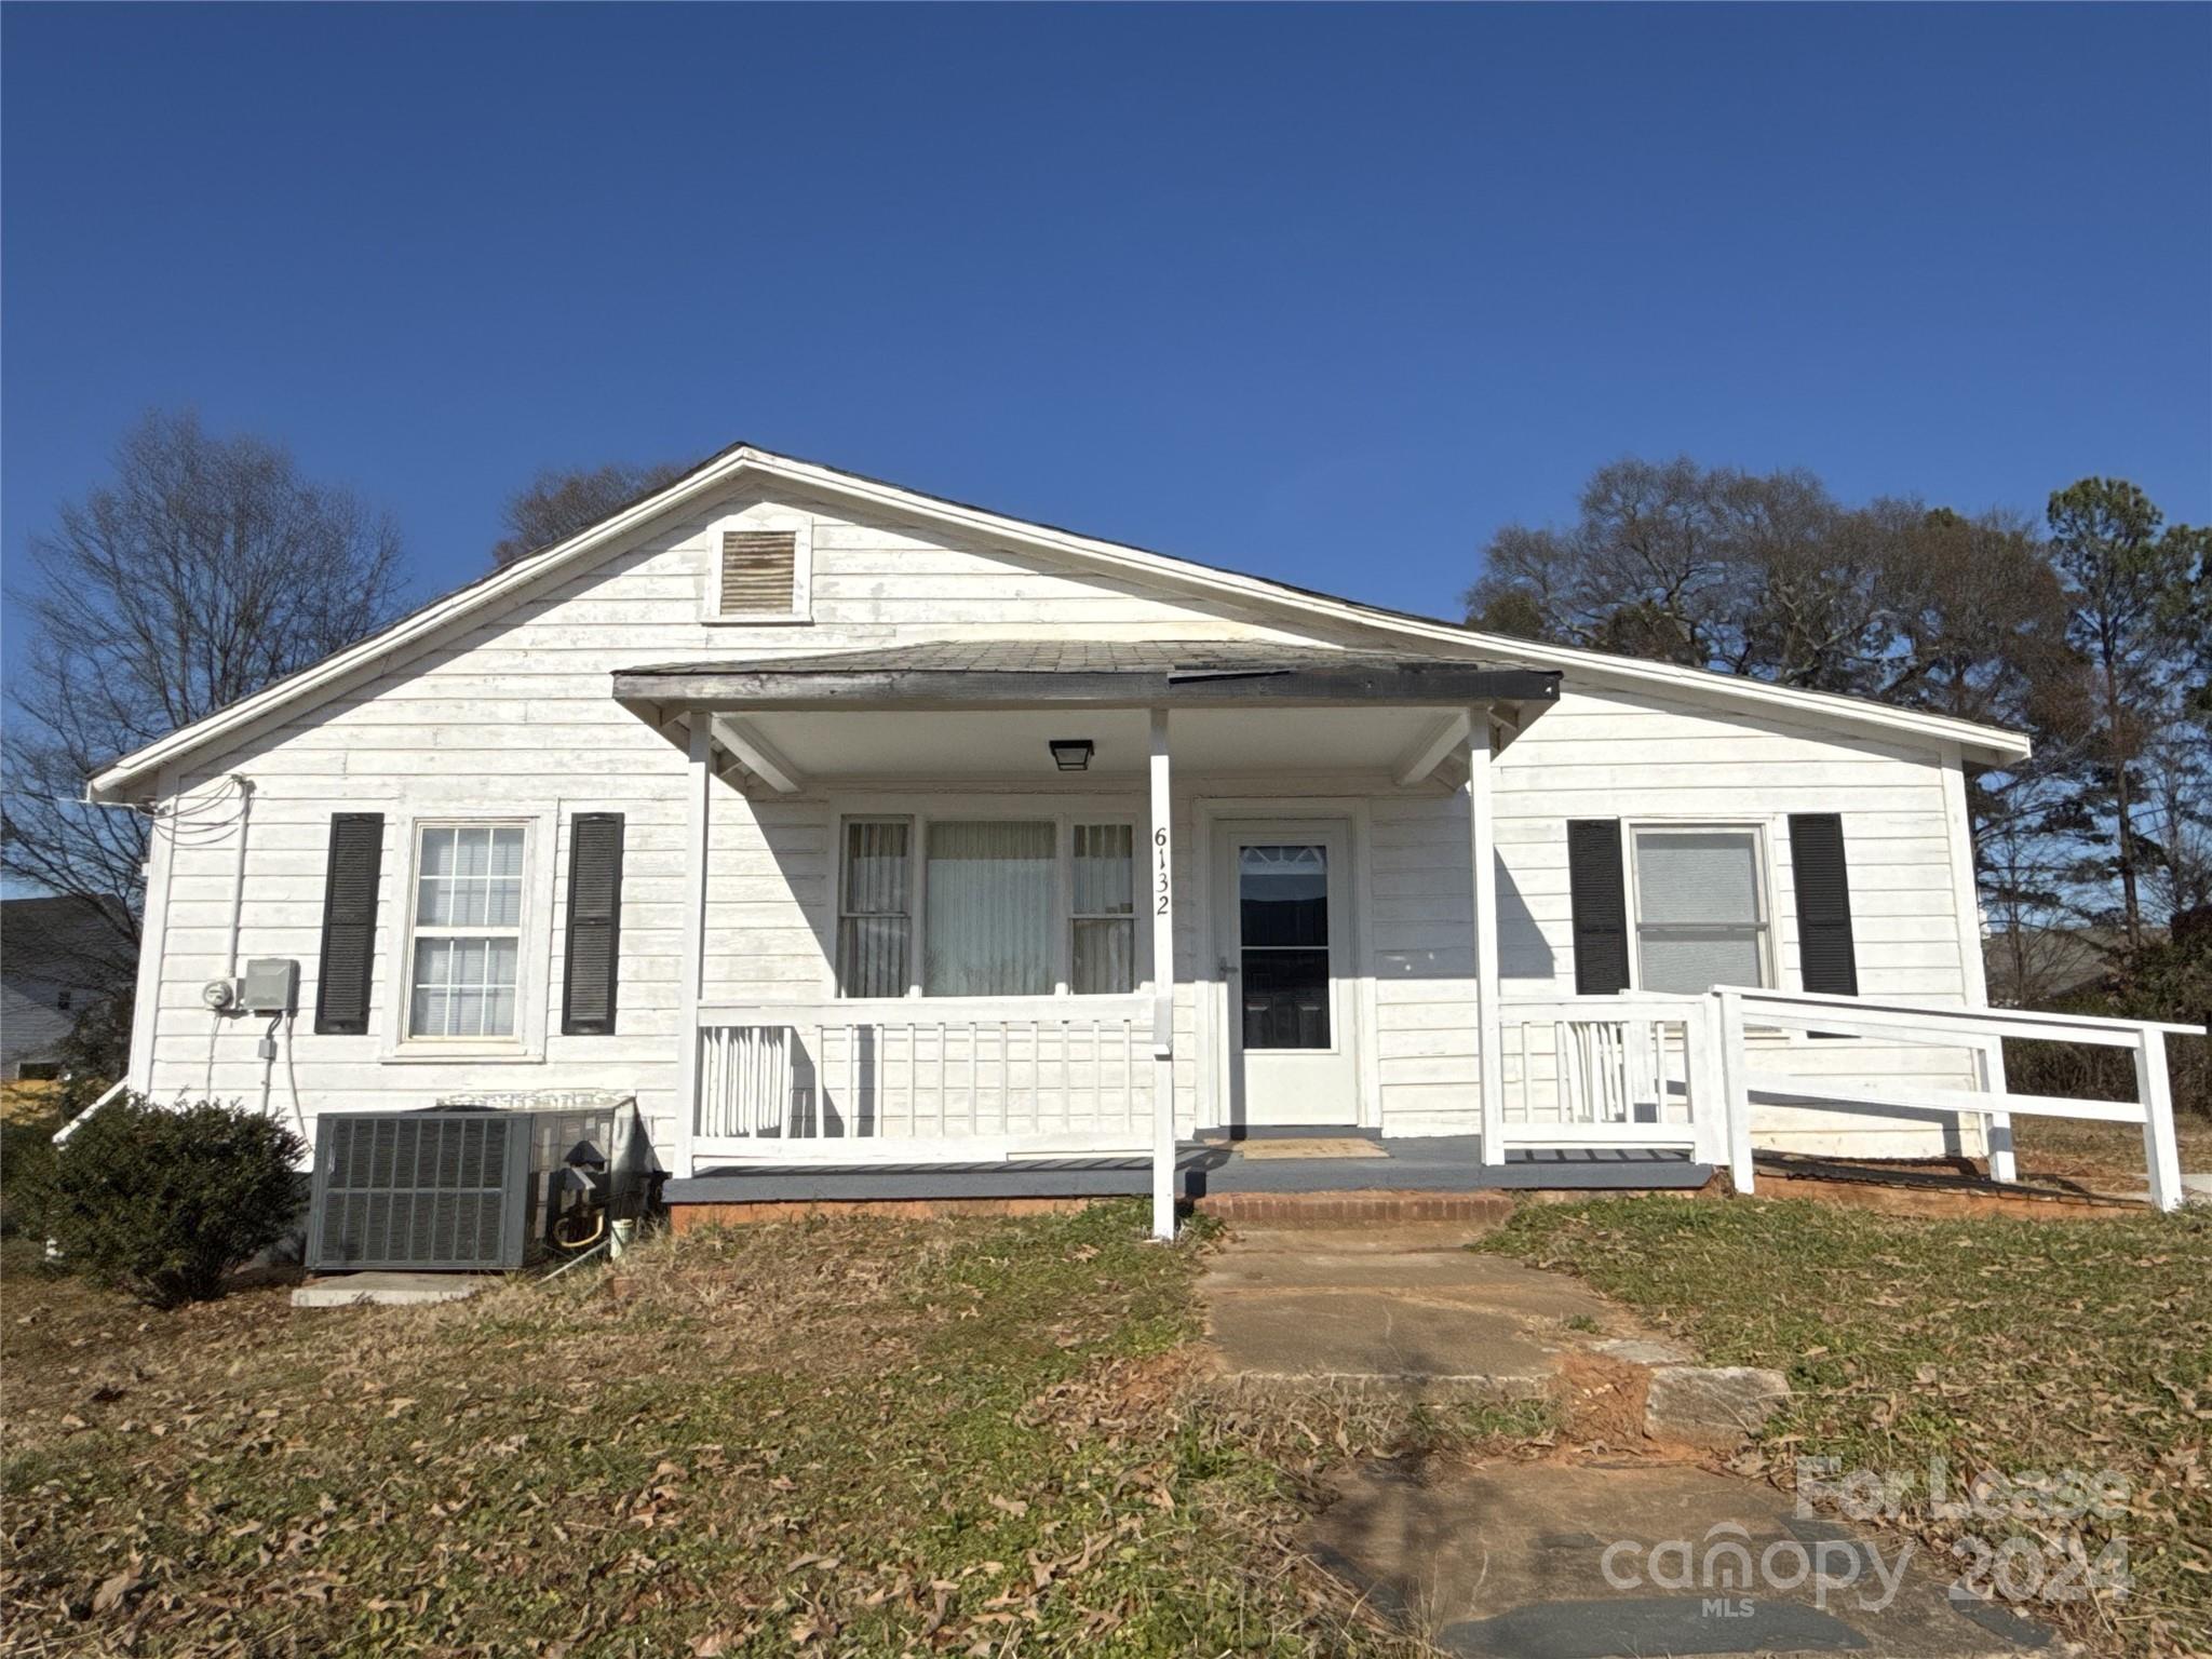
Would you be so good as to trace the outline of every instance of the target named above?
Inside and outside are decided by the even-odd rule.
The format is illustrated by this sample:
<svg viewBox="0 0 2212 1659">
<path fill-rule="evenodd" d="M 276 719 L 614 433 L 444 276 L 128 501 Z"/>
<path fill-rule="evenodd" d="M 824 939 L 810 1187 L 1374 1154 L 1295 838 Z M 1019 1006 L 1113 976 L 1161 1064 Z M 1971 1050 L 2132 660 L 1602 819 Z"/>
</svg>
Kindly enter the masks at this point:
<svg viewBox="0 0 2212 1659">
<path fill-rule="evenodd" d="M 307 1210 L 312 1272 L 511 1272 L 544 1248 L 568 1148 L 606 1157 L 615 1113 L 323 1113 Z"/>
</svg>

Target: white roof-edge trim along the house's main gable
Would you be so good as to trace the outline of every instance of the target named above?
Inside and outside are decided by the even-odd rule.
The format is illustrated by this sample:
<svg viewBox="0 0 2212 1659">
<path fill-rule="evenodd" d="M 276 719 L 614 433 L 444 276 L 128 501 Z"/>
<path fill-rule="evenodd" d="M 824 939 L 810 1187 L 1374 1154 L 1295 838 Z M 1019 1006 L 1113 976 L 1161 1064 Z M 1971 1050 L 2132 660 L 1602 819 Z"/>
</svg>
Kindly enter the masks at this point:
<svg viewBox="0 0 2212 1659">
<path fill-rule="evenodd" d="M 91 792 L 100 801 L 131 799 L 133 790 L 144 792 L 144 785 L 150 783 L 153 774 L 161 765 L 217 745 L 226 739 L 234 741 L 250 734 L 272 714 L 307 703 L 310 699 L 316 699 L 319 695 L 325 695 L 334 686 L 347 684 L 358 675 L 374 672 L 387 666 L 396 653 L 431 641 L 504 604 L 513 595 L 533 588 L 557 573 L 573 571 L 575 566 L 613 551 L 617 544 L 641 533 L 664 515 L 726 491 L 745 478 L 761 478 L 807 493 L 860 502 L 876 511 L 889 511 L 909 520 L 938 524 L 953 533 L 975 535 L 984 542 L 1022 546 L 1102 571 L 1141 575 L 1152 582 L 1188 588 L 1210 597 L 1237 599 L 1279 615 L 1296 615 L 1336 626 L 1356 626 L 1405 641 L 1442 644 L 1471 653 L 1480 650 L 1486 657 L 1528 668 L 1571 668 L 1579 677 L 1588 677 L 1597 684 L 1674 690 L 1717 701 L 1754 706 L 1783 719 L 1796 717 L 1823 726 L 1907 732 L 1924 741 L 1958 743 L 1960 752 L 1975 761 L 2004 763 L 2028 754 L 2028 741 L 2024 737 L 1993 726 L 1978 726 L 1973 721 L 1960 721 L 1944 714 L 1889 708 L 1885 703 L 1869 703 L 1858 697 L 1838 697 L 1834 692 L 1772 686 L 1767 681 L 1719 675 L 1705 668 L 1613 657 L 1599 650 L 1575 650 L 1568 646 L 1548 646 L 1528 639 L 1511 639 L 1506 635 L 1480 633 L 1475 628 L 1440 622 L 1436 617 L 1385 611 L 1356 599 L 1338 599 L 1325 593 L 1296 588 L 1285 582 L 1270 582 L 1265 577 L 1223 571 L 1192 560 L 1168 557 L 1164 553 L 1148 553 L 1119 542 L 1099 542 L 1051 524 L 1006 518 L 1002 513 L 991 513 L 980 507 L 945 500 L 940 495 L 925 495 L 920 491 L 887 484 L 860 473 L 838 471 L 834 467 L 796 460 L 792 456 L 779 456 L 752 445 L 732 445 L 730 449 L 699 462 L 664 489 L 641 495 L 628 507 L 606 515 L 591 529 L 489 571 L 442 599 L 434 599 L 420 611 L 400 617 L 389 628 L 383 628 L 345 650 L 332 653 L 323 661 L 303 668 L 296 675 L 288 675 L 252 697 L 239 699 L 230 708 L 217 710 L 192 726 L 170 732 L 142 750 L 122 757 L 91 779 Z"/>
</svg>

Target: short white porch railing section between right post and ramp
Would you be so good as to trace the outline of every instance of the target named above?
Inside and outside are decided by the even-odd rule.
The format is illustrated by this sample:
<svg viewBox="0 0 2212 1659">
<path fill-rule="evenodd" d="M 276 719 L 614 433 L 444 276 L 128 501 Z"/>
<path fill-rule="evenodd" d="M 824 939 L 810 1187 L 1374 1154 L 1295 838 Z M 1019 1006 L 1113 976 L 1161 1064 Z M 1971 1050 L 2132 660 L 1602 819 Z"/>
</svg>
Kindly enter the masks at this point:
<svg viewBox="0 0 2212 1659">
<path fill-rule="evenodd" d="M 1608 995 L 1502 1006 L 1502 1141 L 1725 1155 L 1710 998 Z"/>
</svg>

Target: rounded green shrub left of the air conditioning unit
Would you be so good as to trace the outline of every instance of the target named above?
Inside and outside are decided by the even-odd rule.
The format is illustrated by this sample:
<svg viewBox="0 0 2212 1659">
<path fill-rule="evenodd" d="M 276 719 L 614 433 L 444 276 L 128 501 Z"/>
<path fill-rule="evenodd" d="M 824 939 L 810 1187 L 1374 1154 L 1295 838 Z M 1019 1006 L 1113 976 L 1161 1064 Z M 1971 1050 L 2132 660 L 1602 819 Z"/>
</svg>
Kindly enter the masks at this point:
<svg viewBox="0 0 2212 1659">
<path fill-rule="evenodd" d="M 128 1095 L 58 1150 L 38 1223 L 100 1283 L 155 1307 L 204 1301 L 290 1230 L 305 1150 L 283 1124 L 239 1106 Z"/>
</svg>

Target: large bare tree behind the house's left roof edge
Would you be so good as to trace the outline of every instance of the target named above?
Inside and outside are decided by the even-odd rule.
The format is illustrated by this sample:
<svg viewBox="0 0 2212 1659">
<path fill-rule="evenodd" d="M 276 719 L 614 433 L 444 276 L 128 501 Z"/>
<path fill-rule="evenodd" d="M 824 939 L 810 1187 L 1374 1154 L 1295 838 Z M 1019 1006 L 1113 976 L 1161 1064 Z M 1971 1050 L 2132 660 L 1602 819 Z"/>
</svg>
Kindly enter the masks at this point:
<svg viewBox="0 0 2212 1659">
<path fill-rule="evenodd" d="M 146 821 L 82 803 L 104 763 L 376 630 L 398 611 L 400 538 L 352 491 L 192 411 L 148 414 L 115 478 L 31 538 L 31 624 L 9 679 L 0 867 L 100 900 L 137 953 Z"/>
</svg>

